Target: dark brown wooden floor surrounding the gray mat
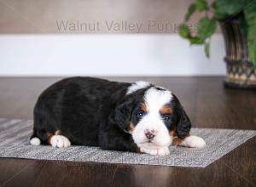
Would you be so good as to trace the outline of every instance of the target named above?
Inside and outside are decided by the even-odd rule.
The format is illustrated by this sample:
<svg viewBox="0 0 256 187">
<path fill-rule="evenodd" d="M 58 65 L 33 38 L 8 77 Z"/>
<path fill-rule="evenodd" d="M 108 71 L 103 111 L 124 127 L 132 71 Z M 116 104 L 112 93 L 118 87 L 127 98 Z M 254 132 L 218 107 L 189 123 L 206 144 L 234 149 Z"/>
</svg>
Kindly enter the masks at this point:
<svg viewBox="0 0 256 187">
<path fill-rule="evenodd" d="M 60 78 L 0 78 L 0 117 L 32 118 L 44 88 Z M 112 77 L 172 90 L 194 127 L 256 130 L 256 92 L 223 87 L 222 77 Z M 256 186 L 256 138 L 206 168 L 0 159 L 3 186 Z"/>
</svg>

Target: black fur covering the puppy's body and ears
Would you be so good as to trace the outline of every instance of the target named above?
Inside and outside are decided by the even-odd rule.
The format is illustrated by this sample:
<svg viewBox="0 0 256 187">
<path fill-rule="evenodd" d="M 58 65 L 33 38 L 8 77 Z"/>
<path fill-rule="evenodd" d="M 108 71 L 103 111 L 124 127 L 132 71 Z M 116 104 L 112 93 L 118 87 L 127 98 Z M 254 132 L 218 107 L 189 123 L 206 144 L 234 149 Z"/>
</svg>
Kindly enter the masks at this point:
<svg viewBox="0 0 256 187">
<path fill-rule="evenodd" d="M 38 98 L 34 108 L 32 137 L 48 144 L 49 134 L 57 130 L 71 144 L 100 146 L 103 150 L 136 151 L 131 134 L 127 133 L 143 95 L 150 88 L 139 89 L 126 95 L 131 83 L 109 82 L 91 77 L 72 77 L 56 82 Z M 153 85 L 152 85 L 153 86 Z M 172 100 L 176 113 L 172 125 L 177 136 L 188 135 L 191 123 L 177 98 Z"/>
</svg>

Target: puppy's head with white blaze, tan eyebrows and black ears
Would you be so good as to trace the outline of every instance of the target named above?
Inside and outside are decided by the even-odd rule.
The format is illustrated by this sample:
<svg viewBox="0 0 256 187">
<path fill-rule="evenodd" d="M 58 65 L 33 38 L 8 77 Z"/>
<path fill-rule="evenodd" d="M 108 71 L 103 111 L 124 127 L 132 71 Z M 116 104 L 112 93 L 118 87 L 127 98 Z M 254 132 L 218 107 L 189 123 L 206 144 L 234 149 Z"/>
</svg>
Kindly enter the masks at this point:
<svg viewBox="0 0 256 187">
<path fill-rule="evenodd" d="M 138 146 L 157 149 L 172 144 L 173 136 L 189 135 L 191 122 L 169 90 L 148 86 L 130 92 L 115 109 L 115 121 L 131 133 Z"/>
</svg>

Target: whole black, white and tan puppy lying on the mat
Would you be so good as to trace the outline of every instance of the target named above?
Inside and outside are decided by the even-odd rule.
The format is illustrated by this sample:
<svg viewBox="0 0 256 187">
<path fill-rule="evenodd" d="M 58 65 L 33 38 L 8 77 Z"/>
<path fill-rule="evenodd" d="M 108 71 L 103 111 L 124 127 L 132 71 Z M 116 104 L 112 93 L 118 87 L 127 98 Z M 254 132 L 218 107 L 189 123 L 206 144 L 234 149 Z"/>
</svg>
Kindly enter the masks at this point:
<svg viewBox="0 0 256 187">
<path fill-rule="evenodd" d="M 103 150 L 168 155 L 171 144 L 201 148 L 177 97 L 148 82 L 72 77 L 38 98 L 31 144 L 100 146 Z"/>
</svg>

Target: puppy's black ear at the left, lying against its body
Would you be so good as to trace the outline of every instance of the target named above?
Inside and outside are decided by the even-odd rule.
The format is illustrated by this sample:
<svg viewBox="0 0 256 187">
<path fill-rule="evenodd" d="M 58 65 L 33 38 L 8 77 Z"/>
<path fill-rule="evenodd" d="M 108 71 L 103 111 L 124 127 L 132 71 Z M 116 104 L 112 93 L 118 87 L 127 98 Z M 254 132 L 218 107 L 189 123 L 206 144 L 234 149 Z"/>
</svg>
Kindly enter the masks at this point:
<svg viewBox="0 0 256 187">
<path fill-rule="evenodd" d="M 119 125 L 119 127 L 125 129 L 129 126 L 131 120 L 131 112 L 133 108 L 132 99 L 125 99 L 121 104 L 119 104 L 114 110 L 114 121 Z"/>
</svg>

